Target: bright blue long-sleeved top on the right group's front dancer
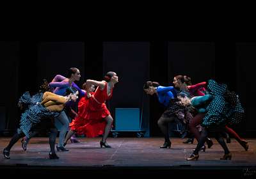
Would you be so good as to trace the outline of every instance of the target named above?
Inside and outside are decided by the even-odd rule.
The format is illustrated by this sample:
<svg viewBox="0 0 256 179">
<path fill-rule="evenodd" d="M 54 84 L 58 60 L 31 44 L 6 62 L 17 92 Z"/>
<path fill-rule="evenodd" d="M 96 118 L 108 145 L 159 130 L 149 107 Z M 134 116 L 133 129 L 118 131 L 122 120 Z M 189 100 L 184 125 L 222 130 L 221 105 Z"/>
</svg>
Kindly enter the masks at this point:
<svg viewBox="0 0 256 179">
<path fill-rule="evenodd" d="M 157 94 L 158 94 L 158 100 L 161 104 L 163 104 L 165 107 L 168 106 L 171 99 L 174 99 L 177 97 L 177 92 L 173 86 L 157 86 Z"/>
</svg>

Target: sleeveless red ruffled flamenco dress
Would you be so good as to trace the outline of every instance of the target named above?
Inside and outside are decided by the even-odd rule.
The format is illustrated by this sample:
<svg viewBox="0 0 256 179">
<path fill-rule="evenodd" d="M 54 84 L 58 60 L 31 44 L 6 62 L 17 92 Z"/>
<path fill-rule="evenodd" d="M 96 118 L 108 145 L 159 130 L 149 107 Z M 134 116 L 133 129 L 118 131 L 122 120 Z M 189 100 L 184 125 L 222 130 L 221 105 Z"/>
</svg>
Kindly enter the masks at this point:
<svg viewBox="0 0 256 179">
<path fill-rule="evenodd" d="M 78 104 L 78 116 L 72 120 L 69 127 L 75 130 L 77 134 L 85 134 L 86 137 L 97 137 L 104 133 L 106 127 L 106 118 L 110 113 L 106 107 L 105 101 L 112 97 L 107 93 L 107 82 L 103 90 L 98 87 L 92 97 L 84 96 Z"/>
</svg>

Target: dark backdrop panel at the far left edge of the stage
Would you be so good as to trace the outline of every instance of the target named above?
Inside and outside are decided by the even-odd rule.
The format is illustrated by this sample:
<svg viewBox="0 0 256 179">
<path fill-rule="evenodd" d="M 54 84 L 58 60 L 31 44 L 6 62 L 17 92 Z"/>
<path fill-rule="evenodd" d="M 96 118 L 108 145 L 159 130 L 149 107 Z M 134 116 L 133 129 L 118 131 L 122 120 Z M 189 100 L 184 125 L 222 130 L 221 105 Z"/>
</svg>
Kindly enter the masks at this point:
<svg viewBox="0 0 256 179">
<path fill-rule="evenodd" d="M 19 97 L 20 42 L 0 42 L 0 132 L 15 128 Z M 12 123 L 12 121 L 15 121 Z"/>
</svg>

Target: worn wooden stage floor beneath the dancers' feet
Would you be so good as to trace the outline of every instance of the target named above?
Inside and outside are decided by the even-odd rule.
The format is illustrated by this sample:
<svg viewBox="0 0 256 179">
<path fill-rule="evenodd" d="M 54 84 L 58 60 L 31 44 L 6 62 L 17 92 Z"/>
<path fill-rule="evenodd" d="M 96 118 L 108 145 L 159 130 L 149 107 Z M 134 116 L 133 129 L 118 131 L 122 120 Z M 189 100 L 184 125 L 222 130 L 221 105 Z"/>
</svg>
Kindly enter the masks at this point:
<svg viewBox="0 0 256 179">
<path fill-rule="evenodd" d="M 246 139 L 249 143 L 248 151 L 240 146 L 235 139 L 231 139 L 228 148 L 232 153 L 232 160 L 220 160 L 223 150 L 215 139 L 214 145 L 200 152 L 198 161 L 186 161 L 196 146 L 183 144 L 184 139 L 172 138 L 170 149 L 161 149 L 161 137 L 149 138 L 108 138 L 108 144 L 113 148 L 100 148 L 100 138 L 79 138 L 81 143 L 68 141 L 68 152 L 57 152 L 60 159 L 49 160 L 49 139 L 35 137 L 29 141 L 27 151 L 21 148 L 20 141 L 13 146 L 11 159 L 0 157 L 0 166 L 51 166 L 51 167 L 245 167 L 256 166 L 256 139 Z M 10 141 L 10 137 L 0 138 L 0 150 Z"/>
</svg>

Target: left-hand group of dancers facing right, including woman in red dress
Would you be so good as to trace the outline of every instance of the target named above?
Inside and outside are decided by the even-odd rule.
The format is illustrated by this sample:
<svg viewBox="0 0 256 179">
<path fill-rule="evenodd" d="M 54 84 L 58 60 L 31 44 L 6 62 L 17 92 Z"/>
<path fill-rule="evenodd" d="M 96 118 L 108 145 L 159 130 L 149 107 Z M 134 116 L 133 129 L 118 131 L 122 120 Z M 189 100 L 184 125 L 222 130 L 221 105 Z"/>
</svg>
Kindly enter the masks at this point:
<svg viewBox="0 0 256 179">
<path fill-rule="evenodd" d="M 80 89 L 75 83 L 80 78 L 79 69 L 70 68 L 67 77 L 56 75 L 49 84 L 44 80 L 38 93 L 31 96 L 26 91 L 19 98 L 18 105 L 20 109 L 23 109 L 23 113 L 20 118 L 20 127 L 8 146 L 3 150 L 6 159 L 10 159 L 12 146 L 22 137 L 22 148 L 23 150 L 27 149 L 29 139 L 35 136 L 35 128 L 38 128 L 38 126 L 39 128 L 44 126 L 50 132 L 49 144 L 51 151 L 49 158 L 59 159 L 55 151 L 58 134 L 55 125 L 57 121 L 61 123 L 59 141 L 56 145 L 58 152 L 68 151 L 65 145 L 75 133 L 84 134 L 86 137 L 102 135 L 100 147 L 111 148 L 106 139 L 111 130 L 113 118 L 105 102 L 112 97 L 113 88 L 118 82 L 118 76 L 115 72 L 108 72 L 104 76 L 104 81 L 88 79 L 86 85 L 83 85 L 85 89 Z M 97 86 L 96 90 L 95 86 Z M 77 101 L 79 102 L 77 103 Z M 67 111 L 70 111 L 71 114 Z M 70 123 L 68 118 L 72 117 Z M 68 128 L 70 128 L 69 131 Z"/>
</svg>

